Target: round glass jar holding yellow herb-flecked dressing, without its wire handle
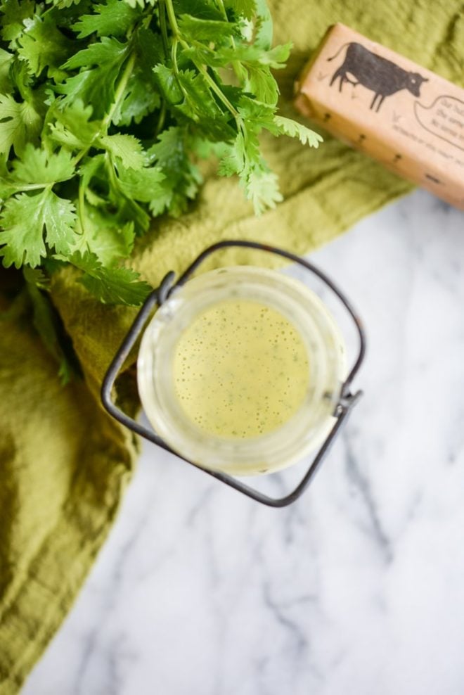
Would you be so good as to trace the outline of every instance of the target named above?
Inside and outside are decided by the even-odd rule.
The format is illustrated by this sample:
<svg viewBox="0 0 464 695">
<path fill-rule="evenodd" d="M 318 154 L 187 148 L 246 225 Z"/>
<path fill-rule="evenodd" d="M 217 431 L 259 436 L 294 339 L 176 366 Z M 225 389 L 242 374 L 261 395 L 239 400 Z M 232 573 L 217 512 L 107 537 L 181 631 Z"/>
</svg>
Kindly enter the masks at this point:
<svg viewBox="0 0 464 695">
<path fill-rule="evenodd" d="M 250 340 L 254 329 L 261 342 Z M 301 369 L 289 359 L 299 359 Z M 199 360 L 204 371 L 193 378 Z M 155 432 L 182 457 L 211 471 L 257 475 L 285 468 L 321 444 L 333 427 L 346 371 L 342 335 L 313 291 L 277 271 L 236 266 L 188 280 L 162 303 L 141 340 L 138 391 Z M 194 383 L 208 427 L 200 415 L 195 419 L 195 403 L 189 409 L 183 402 L 183 379 Z M 227 407 L 236 418 L 243 410 L 243 420 L 256 419 L 257 426 L 215 428 L 214 412 L 224 419 Z"/>
</svg>

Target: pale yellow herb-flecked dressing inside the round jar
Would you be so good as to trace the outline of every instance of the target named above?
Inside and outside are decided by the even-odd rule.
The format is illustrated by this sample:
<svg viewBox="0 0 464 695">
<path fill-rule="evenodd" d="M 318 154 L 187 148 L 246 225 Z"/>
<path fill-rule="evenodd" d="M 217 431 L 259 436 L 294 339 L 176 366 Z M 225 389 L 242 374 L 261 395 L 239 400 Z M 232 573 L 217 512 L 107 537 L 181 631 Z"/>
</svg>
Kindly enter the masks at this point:
<svg viewBox="0 0 464 695">
<path fill-rule="evenodd" d="M 228 438 L 269 433 L 307 393 L 307 350 L 283 314 L 252 300 L 224 300 L 198 314 L 174 353 L 181 408 L 200 430 Z"/>
</svg>

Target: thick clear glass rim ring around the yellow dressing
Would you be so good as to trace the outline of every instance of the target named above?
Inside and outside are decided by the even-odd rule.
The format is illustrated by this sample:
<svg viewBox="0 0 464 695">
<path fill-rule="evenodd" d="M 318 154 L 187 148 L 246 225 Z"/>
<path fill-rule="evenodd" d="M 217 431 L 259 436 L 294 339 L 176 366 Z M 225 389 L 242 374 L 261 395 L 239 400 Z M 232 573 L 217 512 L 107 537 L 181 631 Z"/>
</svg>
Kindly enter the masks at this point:
<svg viewBox="0 0 464 695">
<path fill-rule="evenodd" d="M 297 412 L 275 430 L 250 438 L 200 430 L 181 409 L 174 390 L 176 340 L 200 312 L 224 298 L 258 300 L 283 314 L 304 340 L 315 367 Z M 221 268 L 189 280 L 157 310 L 141 340 L 138 390 L 155 431 L 181 456 L 210 470 L 264 473 L 302 458 L 326 436 L 345 376 L 345 352 L 328 308 L 303 283 L 261 267 Z"/>
</svg>

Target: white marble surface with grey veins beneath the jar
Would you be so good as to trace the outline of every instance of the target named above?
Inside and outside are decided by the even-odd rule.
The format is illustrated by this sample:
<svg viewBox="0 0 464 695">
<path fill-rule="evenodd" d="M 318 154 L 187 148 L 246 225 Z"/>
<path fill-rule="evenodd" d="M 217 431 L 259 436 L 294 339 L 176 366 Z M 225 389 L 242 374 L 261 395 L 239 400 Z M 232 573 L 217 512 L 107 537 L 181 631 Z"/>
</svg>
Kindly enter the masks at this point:
<svg viewBox="0 0 464 695">
<path fill-rule="evenodd" d="M 23 695 L 463 693 L 464 213 L 418 191 L 312 258 L 369 343 L 314 483 L 267 509 L 144 447 Z"/>
</svg>

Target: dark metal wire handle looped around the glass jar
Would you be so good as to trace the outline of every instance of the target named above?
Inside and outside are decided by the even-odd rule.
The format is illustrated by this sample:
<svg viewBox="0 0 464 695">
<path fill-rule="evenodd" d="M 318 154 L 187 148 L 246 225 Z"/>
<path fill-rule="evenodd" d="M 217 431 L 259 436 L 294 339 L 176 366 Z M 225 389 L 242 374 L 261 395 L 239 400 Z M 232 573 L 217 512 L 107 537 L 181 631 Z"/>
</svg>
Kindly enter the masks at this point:
<svg viewBox="0 0 464 695">
<path fill-rule="evenodd" d="M 286 258 L 294 263 L 301 265 L 302 267 L 309 270 L 309 272 L 312 272 L 314 275 L 318 276 L 318 278 L 321 279 L 324 283 L 326 283 L 326 285 L 333 291 L 333 293 L 335 293 L 337 298 L 339 298 L 339 300 L 342 302 L 345 309 L 354 321 L 356 331 L 359 337 L 359 352 L 354 362 L 354 365 L 352 366 L 351 371 L 349 371 L 346 380 L 342 384 L 342 389 L 340 391 L 340 400 L 334 412 L 335 423 L 333 425 L 333 428 L 328 433 L 326 440 L 321 445 L 313 461 L 311 462 L 307 472 L 304 474 L 302 480 L 298 483 L 297 487 L 295 487 L 295 489 L 292 490 L 292 492 L 290 492 L 288 495 L 285 495 L 284 497 L 269 497 L 269 495 L 265 495 L 263 492 L 255 490 L 253 487 L 250 487 L 249 485 L 245 485 L 245 483 L 242 483 L 241 480 L 233 478 L 232 476 L 228 476 L 227 473 L 209 471 L 206 468 L 202 468 L 198 464 L 195 464 L 193 461 L 189 461 L 185 457 L 175 452 L 174 449 L 169 447 L 169 445 L 167 445 L 167 443 L 164 440 L 162 440 L 162 438 L 160 438 L 153 430 L 144 427 L 136 420 L 132 419 L 127 414 L 122 412 L 122 410 L 117 407 L 117 405 L 111 397 L 112 387 L 116 381 L 117 375 L 120 373 L 122 365 L 129 356 L 129 352 L 131 351 L 132 347 L 134 347 L 138 336 L 140 336 L 141 332 L 143 331 L 143 327 L 145 326 L 148 317 L 150 316 L 153 309 L 156 306 L 160 307 L 167 300 L 172 291 L 174 291 L 178 287 L 183 286 L 183 284 L 186 283 L 186 281 L 192 276 L 193 272 L 195 272 L 198 266 L 208 256 L 212 255 L 214 251 L 230 246 L 254 248 L 260 251 L 275 253 L 276 255 L 282 256 L 283 258 Z M 238 490 L 238 492 L 242 492 L 243 495 L 251 497 L 252 499 L 256 500 L 256 502 L 261 502 L 261 504 L 266 504 L 267 506 L 274 507 L 287 506 L 288 504 L 295 502 L 295 500 L 298 499 L 298 497 L 302 495 L 302 492 L 304 492 L 304 490 L 308 487 L 309 483 L 314 477 L 314 473 L 316 473 L 316 470 L 320 466 L 321 461 L 323 461 L 324 457 L 326 457 L 326 454 L 330 449 L 330 445 L 332 445 L 333 440 L 335 439 L 337 433 L 340 431 L 342 424 L 344 423 L 344 421 L 346 421 L 347 416 L 352 410 L 352 407 L 359 400 L 359 397 L 361 397 L 362 395 L 361 391 L 357 391 L 354 394 L 350 391 L 350 385 L 352 384 L 354 376 L 356 376 L 356 373 L 359 371 L 359 367 L 363 362 L 364 355 L 366 352 L 366 337 L 364 334 L 363 326 L 361 324 L 361 320 L 354 311 L 351 303 L 345 297 L 344 293 L 342 293 L 342 291 L 340 291 L 340 289 L 337 288 L 337 286 L 335 286 L 333 281 L 331 281 L 325 273 L 316 268 L 312 263 L 305 260 L 304 258 L 295 255 L 294 253 L 290 253 L 290 251 L 285 251 L 281 248 L 277 248 L 276 246 L 268 246 L 267 244 L 262 244 L 257 241 L 219 241 L 218 243 L 209 246 L 202 253 L 200 253 L 200 255 L 193 261 L 191 265 L 188 266 L 186 271 L 183 272 L 183 274 L 179 277 L 179 279 L 176 282 L 174 282 L 174 277 L 174 272 L 171 271 L 167 273 L 165 278 L 162 280 L 160 286 L 157 289 L 153 290 L 153 292 L 150 293 L 150 295 L 148 295 L 148 298 L 143 303 L 141 310 L 138 312 L 136 319 L 134 320 L 134 323 L 131 325 L 131 328 L 129 329 L 127 336 L 122 341 L 119 350 L 117 350 L 115 357 L 112 359 L 112 362 L 108 367 L 108 371 L 105 374 L 105 378 L 103 379 L 101 387 L 101 400 L 103 403 L 103 407 L 105 407 L 105 409 L 112 417 L 114 417 L 118 422 L 122 423 L 122 425 L 128 427 L 131 431 L 137 433 L 138 435 L 141 435 L 141 437 L 147 439 L 148 441 L 153 442 L 153 444 L 162 447 L 162 449 L 165 449 L 167 452 L 175 454 L 177 457 L 183 459 L 183 461 L 186 461 L 186 463 L 195 466 L 195 468 L 200 468 L 200 470 L 204 473 L 207 473 L 209 476 L 212 476 L 213 478 L 220 480 L 221 483 L 224 483 L 229 487 L 233 487 L 235 490 Z"/>
</svg>

